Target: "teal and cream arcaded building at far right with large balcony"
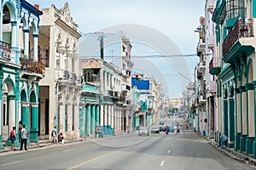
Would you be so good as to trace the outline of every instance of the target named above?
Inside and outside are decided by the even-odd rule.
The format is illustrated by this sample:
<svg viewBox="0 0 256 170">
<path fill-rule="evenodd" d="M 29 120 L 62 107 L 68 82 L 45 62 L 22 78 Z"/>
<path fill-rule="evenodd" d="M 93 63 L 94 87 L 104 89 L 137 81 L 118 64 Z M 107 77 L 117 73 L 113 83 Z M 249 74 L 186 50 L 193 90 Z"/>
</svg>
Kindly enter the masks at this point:
<svg viewBox="0 0 256 170">
<path fill-rule="evenodd" d="M 218 74 L 218 131 L 235 147 L 256 157 L 255 126 L 255 1 L 217 1 L 216 23 Z"/>
</svg>

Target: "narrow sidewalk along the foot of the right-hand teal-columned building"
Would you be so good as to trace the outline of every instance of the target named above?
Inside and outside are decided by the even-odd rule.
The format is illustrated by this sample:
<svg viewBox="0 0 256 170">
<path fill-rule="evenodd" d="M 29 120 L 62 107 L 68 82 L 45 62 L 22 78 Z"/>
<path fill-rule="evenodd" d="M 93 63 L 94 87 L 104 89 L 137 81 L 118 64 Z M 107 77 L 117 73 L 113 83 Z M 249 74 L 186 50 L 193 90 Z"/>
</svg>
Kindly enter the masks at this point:
<svg viewBox="0 0 256 170">
<path fill-rule="evenodd" d="M 196 132 L 195 132 L 196 133 Z M 197 133 L 201 136 L 201 134 Z M 203 136 L 201 136 L 203 137 Z M 231 158 L 242 161 L 244 163 L 250 163 L 252 165 L 256 165 L 256 160 L 253 159 L 253 156 L 247 156 L 245 153 L 241 153 L 240 151 L 234 150 L 234 148 L 228 148 L 224 147 L 224 149 L 220 149 L 218 146 L 218 143 L 214 141 L 214 139 L 208 139 L 207 137 L 203 137 L 204 139 L 207 139 L 209 141 L 209 144 L 212 144 L 213 147 L 215 147 L 217 150 L 224 152 L 227 156 L 230 156 Z"/>
</svg>

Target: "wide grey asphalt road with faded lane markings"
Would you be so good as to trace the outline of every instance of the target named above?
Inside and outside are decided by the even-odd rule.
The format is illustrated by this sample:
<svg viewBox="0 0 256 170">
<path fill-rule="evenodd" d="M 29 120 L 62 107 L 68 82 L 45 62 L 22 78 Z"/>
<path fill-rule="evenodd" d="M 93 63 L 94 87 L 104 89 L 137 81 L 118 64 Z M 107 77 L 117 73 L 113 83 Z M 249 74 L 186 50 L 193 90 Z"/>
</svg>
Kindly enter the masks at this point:
<svg viewBox="0 0 256 170">
<path fill-rule="evenodd" d="M 149 137 L 132 134 L 1 153 L 0 169 L 250 170 L 255 167 L 233 160 L 207 140 L 182 129 L 180 134 Z"/>
</svg>

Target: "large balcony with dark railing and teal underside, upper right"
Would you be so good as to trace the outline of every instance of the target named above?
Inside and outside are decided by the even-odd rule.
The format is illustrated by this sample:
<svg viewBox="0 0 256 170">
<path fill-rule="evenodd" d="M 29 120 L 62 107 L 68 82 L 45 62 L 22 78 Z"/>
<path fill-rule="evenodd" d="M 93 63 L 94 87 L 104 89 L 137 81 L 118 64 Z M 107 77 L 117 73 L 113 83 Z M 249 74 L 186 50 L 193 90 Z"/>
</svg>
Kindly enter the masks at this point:
<svg viewBox="0 0 256 170">
<path fill-rule="evenodd" d="M 223 43 L 224 62 L 233 64 L 241 56 L 253 54 L 251 37 L 253 37 L 253 20 L 247 19 L 247 22 L 243 22 L 242 19 L 237 20 Z"/>
</svg>

